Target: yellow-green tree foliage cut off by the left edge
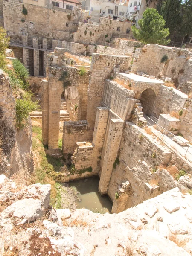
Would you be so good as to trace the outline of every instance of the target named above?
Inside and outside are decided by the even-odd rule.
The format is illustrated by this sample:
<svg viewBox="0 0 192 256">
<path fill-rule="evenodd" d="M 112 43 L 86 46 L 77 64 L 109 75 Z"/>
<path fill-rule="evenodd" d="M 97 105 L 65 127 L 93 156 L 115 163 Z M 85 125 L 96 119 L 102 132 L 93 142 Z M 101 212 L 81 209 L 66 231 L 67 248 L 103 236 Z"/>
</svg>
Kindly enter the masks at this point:
<svg viewBox="0 0 192 256">
<path fill-rule="evenodd" d="M 7 37 L 6 30 L 0 27 L 0 68 L 5 67 L 6 64 L 6 48 L 9 46 L 9 37 Z"/>
</svg>

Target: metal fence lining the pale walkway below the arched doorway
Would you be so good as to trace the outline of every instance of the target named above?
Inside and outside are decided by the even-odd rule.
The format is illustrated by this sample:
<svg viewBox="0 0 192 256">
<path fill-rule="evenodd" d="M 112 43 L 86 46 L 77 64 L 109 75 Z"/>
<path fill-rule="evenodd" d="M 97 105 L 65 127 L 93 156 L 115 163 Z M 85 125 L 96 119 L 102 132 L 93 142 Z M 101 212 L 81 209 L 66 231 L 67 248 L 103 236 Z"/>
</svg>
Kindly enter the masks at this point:
<svg viewBox="0 0 192 256">
<path fill-rule="evenodd" d="M 150 121 L 152 121 L 152 123 Z M 165 141 L 164 139 L 164 136 L 166 136 L 166 134 L 170 134 L 172 137 L 176 137 L 174 134 L 172 134 L 170 131 L 166 130 L 165 128 L 163 128 L 161 125 L 157 124 L 157 122 L 155 122 L 154 120 L 152 120 L 151 118 L 147 118 L 147 122 L 150 124 L 150 125 L 157 125 L 160 127 L 160 132 L 161 132 L 161 136 L 158 137 L 157 134 L 156 136 L 163 141 L 163 143 L 165 143 L 169 148 L 171 149 L 174 149 L 175 151 L 177 151 L 179 154 L 181 154 L 183 157 L 186 158 L 186 160 L 188 160 L 190 163 L 192 163 L 192 146 L 187 144 L 187 143 L 184 143 L 182 140 L 180 140 L 177 136 L 177 140 L 180 140 L 182 143 L 185 144 L 185 146 L 182 147 L 183 149 L 183 153 L 180 151 L 177 150 L 176 147 L 173 147 L 172 145 L 169 144 L 169 142 Z M 162 132 L 163 130 L 163 132 Z M 169 139 L 171 140 L 171 138 L 169 137 Z M 174 140 L 173 140 L 174 141 Z M 174 141 L 175 142 L 175 141 Z M 175 142 L 177 143 L 177 142 Z M 180 145 L 181 146 L 181 145 Z M 189 152 L 191 151 L 191 152 Z"/>
</svg>

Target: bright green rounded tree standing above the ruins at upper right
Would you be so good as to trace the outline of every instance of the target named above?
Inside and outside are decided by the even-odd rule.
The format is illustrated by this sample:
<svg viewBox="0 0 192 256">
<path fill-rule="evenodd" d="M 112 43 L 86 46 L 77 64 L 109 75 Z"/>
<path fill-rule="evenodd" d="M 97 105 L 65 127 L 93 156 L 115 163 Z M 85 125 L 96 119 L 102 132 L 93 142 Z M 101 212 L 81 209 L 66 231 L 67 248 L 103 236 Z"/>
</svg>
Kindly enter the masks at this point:
<svg viewBox="0 0 192 256">
<path fill-rule="evenodd" d="M 169 29 L 164 28 L 165 20 L 159 15 L 156 9 L 147 8 L 143 17 L 139 20 L 140 29 L 132 26 L 134 37 L 144 44 L 169 44 Z"/>
</svg>

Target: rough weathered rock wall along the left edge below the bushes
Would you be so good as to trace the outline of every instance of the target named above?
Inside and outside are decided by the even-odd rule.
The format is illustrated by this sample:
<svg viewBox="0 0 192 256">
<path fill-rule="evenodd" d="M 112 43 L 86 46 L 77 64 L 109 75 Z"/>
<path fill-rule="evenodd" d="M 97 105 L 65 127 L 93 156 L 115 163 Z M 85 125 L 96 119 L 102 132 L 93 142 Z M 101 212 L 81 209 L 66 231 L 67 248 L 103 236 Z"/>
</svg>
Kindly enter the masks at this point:
<svg viewBox="0 0 192 256">
<path fill-rule="evenodd" d="M 9 76 L 0 70 L 0 173 L 7 177 L 22 168 L 33 170 L 31 123 L 17 129 L 15 115 Z"/>
</svg>

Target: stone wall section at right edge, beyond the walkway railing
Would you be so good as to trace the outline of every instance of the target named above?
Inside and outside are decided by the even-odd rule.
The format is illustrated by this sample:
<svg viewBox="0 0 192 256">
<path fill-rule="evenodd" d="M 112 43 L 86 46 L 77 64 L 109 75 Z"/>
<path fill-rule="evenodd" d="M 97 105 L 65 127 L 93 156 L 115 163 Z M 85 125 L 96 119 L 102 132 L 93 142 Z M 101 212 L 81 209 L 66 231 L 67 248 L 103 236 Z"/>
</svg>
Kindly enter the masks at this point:
<svg viewBox="0 0 192 256">
<path fill-rule="evenodd" d="M 192 98 L 187 98 L 184 108 L 186 113 L 180 125 L 180 132 L 186 140 L 192 142 Z"/>
</svg>

